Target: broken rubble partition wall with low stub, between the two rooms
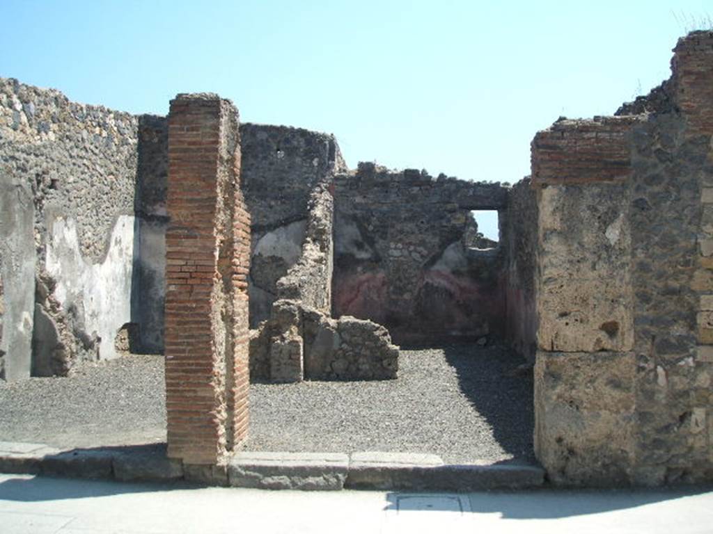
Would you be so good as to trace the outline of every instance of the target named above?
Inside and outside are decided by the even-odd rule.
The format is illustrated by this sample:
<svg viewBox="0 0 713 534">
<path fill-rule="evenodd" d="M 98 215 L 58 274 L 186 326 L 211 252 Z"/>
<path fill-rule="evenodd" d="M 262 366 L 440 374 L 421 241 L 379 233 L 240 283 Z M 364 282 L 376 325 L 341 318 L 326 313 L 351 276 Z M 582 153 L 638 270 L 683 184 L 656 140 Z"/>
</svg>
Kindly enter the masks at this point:
<svg viewBox="0 0 713 534">
<path fill-rule="evenodd" d="M 251 379 L 390 379 L 399 348 L 386 328 L 369 320 L 330 318 L 333 268 L 334 174 L 310 194 L 302 253 L 277 281 L 270 319 L 252 332 Z"/>
</svg>

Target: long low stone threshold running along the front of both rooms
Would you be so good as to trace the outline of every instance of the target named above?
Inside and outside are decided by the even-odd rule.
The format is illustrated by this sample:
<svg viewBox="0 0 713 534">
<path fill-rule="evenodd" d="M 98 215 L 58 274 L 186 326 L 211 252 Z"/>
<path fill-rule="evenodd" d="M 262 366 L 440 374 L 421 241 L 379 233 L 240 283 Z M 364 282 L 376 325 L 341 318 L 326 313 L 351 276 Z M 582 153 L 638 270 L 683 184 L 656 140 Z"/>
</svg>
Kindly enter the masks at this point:
<svg viewBox="0 0 713 534">
<path fill-rule="evenodd" d="M 535 464 L 447 465 L 434 454 L 240 451 L 214 466 L 168 459 L 165 444 L 60 450 L 8 441 L 0 441 L 0 473 L 308 491 L 489 491 L 545 483 Z"/>
</svg>

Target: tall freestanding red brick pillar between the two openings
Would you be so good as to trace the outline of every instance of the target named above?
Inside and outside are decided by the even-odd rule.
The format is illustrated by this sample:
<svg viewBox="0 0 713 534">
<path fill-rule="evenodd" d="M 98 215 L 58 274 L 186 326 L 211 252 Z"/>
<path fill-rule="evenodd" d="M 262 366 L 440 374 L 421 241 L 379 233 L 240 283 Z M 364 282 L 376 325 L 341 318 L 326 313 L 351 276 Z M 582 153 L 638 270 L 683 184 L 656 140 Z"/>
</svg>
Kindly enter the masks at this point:
<svg viewBox="0 0 713 534">
<path fill-rule="evenodd" d="M 181 94 L 168 125 L 168 456 L 217 464 L 247 436 L 250 217 L 238 115 L 217 95 Z"/>
</svg>

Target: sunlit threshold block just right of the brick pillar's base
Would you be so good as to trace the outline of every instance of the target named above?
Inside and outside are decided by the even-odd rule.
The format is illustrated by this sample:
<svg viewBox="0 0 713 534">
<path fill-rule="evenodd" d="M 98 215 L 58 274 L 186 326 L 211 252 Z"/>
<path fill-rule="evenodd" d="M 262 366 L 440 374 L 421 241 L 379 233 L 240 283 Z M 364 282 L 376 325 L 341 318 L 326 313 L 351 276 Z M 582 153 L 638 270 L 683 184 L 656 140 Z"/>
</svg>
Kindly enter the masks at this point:
<svg viewBox="0 0 713 534">
<path fill-rule="evenodd" d="M 239 452 L 227 472 L 240 488 L 340 490 L 348 468 L 346 454 Z"/>
</svg>

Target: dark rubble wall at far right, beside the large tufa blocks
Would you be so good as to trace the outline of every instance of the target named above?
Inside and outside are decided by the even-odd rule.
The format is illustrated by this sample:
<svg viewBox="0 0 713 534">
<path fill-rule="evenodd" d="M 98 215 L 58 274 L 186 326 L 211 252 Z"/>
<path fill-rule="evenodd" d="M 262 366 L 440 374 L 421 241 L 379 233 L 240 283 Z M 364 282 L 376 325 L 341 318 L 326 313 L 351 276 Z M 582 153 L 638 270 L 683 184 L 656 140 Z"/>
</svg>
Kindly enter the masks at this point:
<svg viewBox="0 0 713 534">
<path fill-rule="evenodd" d="M 649 485 L 713 480 L 713 33 L 674 52 L 674 111 L 633 132 L 635 481 Z"/>
</svg>

